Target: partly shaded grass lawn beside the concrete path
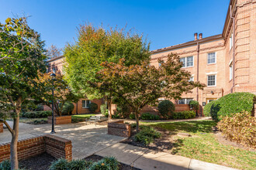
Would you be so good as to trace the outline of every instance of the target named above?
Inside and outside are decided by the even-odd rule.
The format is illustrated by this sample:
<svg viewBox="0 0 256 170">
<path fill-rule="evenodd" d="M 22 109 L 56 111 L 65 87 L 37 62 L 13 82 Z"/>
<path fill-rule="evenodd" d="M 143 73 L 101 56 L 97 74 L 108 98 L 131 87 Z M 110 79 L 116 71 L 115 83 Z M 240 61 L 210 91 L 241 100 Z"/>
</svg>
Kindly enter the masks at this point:
<svg viewBox="0 0 256 170">
<path fill-rule="evenodd" d="M 170 131 L 171 135 L 178 132 L 192 134 L 191 138 L 173 136 L 175 144 L 171 150 L 172 154 L 238 169 L 256 167 L 254 151 L 223 145 L 216 139 L 212 131 L 212 127 L 216 125 L 214 121 L 142 122 L 142 124 L 163 128 Z"/>
</svg>

